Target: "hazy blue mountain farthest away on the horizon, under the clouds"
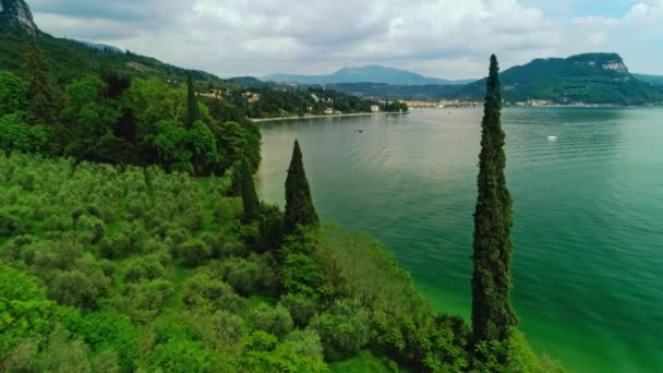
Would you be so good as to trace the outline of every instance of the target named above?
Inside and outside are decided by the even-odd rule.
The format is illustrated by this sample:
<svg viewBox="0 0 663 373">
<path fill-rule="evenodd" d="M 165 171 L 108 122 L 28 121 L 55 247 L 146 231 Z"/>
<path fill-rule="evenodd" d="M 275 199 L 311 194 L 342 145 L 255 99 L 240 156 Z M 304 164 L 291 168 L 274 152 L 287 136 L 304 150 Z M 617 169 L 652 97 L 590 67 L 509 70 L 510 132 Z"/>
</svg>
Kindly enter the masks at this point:
<svg viewBox="0 0 663 373">
<path fill-rule="evenodd" d="M 465 84 L 469 81 L 447 81 L 444 79 L 426 77 L 407 70 L 369 65 L 362 68 L 342 68 L 329 75 L 290 75 L 272 74 L 262 77 L 263 81 L 298 84 L 338 84 L 338 83 L 384 83 L 396 85 L 426 84 Z"/>
</svg>

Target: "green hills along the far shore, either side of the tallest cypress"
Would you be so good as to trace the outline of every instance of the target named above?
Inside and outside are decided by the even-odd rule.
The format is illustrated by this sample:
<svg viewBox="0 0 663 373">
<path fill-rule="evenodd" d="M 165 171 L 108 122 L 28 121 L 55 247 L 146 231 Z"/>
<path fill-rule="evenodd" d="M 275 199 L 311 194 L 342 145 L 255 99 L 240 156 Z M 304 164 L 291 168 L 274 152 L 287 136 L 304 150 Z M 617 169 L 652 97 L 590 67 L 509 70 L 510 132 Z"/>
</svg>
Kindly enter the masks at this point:
<svg viewBox="0 0 663 373">
<path fill-rule="evenodd" d="M 507 101 L 642 105 L 663 103 L 662 77 L 631 74 L 617 53 L 584 53 L 537 59 L 501 73 Z M 329 88 L 358 95 L 410 99 L 481 100 L 485 80 L 465 85 L 340 83 Z"/>
</svg>

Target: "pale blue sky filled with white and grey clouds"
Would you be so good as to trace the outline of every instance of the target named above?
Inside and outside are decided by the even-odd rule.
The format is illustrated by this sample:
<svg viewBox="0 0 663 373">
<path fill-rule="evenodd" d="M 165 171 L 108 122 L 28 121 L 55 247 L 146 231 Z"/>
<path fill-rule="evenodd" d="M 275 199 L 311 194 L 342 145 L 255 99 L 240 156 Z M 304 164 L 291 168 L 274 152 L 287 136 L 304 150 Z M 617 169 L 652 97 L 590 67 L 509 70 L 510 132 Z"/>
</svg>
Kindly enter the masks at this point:
<svg viewBox="0 0 663 373">
<path fill-rule="evenodd" d="M 27 0 L 41 31 L 222 77 L 382 64 L 444 79 L 618 52 L 663 75 L 663 0 Z"/>
</svg>

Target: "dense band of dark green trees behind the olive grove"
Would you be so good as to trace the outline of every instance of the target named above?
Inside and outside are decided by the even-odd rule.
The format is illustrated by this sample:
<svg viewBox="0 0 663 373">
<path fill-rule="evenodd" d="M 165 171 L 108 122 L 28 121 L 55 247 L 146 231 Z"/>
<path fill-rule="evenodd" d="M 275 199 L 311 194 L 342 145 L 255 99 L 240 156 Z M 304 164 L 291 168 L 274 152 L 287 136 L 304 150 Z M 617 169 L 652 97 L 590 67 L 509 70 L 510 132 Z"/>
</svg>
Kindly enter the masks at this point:
<svg viewBox="0 0 663 373">
<path fill-rule="evenodd" d="M 189 84 L 133 79 L 104 70 L 60 87 L 39 50 L 25 77 L 0 71 L 0 146 L 119 165 L 159 165 L 222 175 L 245 156 L 260 165 L 261 134 L 232 107 L 217 116 Z"/>
</svg>

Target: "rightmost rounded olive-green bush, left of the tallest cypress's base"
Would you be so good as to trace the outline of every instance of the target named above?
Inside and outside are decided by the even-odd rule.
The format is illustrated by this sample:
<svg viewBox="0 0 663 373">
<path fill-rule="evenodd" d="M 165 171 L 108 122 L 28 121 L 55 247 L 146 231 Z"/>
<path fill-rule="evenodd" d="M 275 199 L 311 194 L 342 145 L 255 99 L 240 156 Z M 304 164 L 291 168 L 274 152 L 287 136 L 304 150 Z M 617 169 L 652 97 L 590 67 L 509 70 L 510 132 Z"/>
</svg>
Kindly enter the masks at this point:
<svg viewBox="0 0 663 373">
<path fill-rule="evenodd" d="M 370 338 L 369 312 L 351 300 L 338 301 L 332 310 L 315 316 L 311 328 L 321 337 L 325 356 L 342 360 L 359 352 Z"/>
</svg>

